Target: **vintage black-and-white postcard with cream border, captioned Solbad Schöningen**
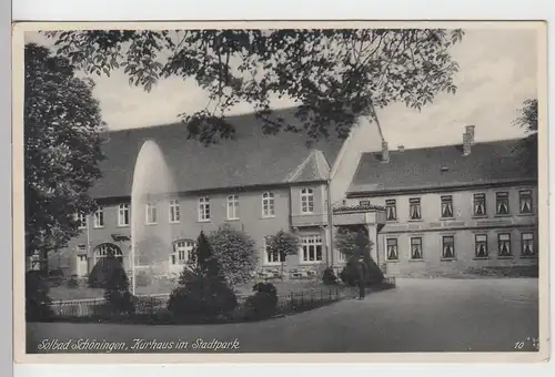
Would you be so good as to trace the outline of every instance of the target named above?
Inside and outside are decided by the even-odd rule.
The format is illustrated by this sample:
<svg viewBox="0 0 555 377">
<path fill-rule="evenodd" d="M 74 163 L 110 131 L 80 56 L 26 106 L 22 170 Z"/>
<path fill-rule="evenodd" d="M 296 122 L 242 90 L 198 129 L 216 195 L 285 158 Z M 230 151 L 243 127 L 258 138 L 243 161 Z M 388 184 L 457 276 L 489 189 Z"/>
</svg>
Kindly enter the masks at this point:
<svg viewBox="0 0 555 377">
<path fill-rule="evenodd" d="M 546 30 L 14 24 L 17 360 L 548 359 Z"/>
</svg>

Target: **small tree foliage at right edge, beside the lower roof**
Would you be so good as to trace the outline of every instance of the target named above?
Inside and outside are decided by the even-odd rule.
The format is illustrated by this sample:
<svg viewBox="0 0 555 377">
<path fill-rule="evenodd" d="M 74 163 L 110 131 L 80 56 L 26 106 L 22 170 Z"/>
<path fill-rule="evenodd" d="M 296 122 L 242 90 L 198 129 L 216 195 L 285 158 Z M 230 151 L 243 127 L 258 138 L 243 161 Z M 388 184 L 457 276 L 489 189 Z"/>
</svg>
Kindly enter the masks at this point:
<svg viewBox="0 0 555 377">
<path fill-rule="evenodd" d="M 537 174 L 537 99 L 523 102 L 513 124 L 523 128 L 527 136 L 516 144 L 516 152 L 526 170 Z"/>
</svg>

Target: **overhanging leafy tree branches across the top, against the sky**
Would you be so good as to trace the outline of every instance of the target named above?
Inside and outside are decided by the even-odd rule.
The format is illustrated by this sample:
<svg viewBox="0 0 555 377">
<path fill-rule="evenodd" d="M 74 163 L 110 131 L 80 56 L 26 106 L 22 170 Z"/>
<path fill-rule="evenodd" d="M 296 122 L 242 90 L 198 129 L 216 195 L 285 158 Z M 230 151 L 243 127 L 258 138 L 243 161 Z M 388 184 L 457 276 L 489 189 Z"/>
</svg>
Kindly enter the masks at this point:
<svg viewBox="0 0 555 377">
<path fill-rule="evenodd" d="M 266 133 L 281 130 L 346 137 L 361 115 L 402 101 L 421 109 L 440 92 L 455 93 L 451 48 L 462 30 L 81 30 L 44 32 L 58 53 L 91 74 L 122 69 L 150 91 L 161 78 L 193 79 L 208 91 L 205 109 L 181 114 L 192 137 L 232 137 L 225 113 L 253 105 Z M 300 124 L 273 116 L 271 100 L 299 104 Z"/>
</svg>

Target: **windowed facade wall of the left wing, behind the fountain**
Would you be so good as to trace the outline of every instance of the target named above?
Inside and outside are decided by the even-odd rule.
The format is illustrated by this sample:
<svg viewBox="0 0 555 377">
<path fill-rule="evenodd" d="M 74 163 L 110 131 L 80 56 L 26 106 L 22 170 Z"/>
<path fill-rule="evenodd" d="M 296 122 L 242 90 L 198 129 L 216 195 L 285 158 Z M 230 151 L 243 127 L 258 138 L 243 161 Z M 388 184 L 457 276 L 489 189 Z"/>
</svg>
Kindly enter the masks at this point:
<svg viewBox="0 0 555 377">
<path fill-rule="evenodd" d="M 303 187 L 313 188 L 314 211 L 312 214 L 303 214 L 301 211 L 301 191 Z M 274 194 L 274 216 L 263 216 L 262 194 L 272 192 Z M 228 196 L 236 195 L 239 197 L 239 218 L 228 220 Z M 158 222 L 154 225 L 145 225 L 143 232 L 161 238 L 196 240 L 200 232 L 209 234 L 218 230 L 221 225 L 230 225 L 235 230 L 244 231 L 251 236 L 258 247 L 259 266 L 275 268 L 280 263 L 268 263 L 264 237 L 276 234 L 280 230 L 286 232 L 297 232 L 299 235 L 321 235 L 322 243 L 327 241 L 323 226 L 327 223 L 325 184 L 299 184 L 290 187 L 274 187 L 271 190 L 245 190 L 241 192 L 208 194 L 210 198 L 210 221 L 200 221 L 199 218 L 199 198 L 203 195 L 185 195 L 179 198 L 180 222 L 170 223 L 169 202 L 157 203 Z M 120 226 L 118 224 L 119 205 L 129 203 L 104 202 L 103 217 L 104 226 L 94 227 L 93 216 L 88 216 L 88 231 L 83 230 L 79 237 L 71 240 L 68 247 L 50 257 L 50 269 L 61 268 L 64 275 L 75 274 L 78 272 L 77 251 L 79 245 L 85 246 L 88 256 L 88 267 L 90 272 L 97 259 L 94 248 L 103 243 L 111 243 L 120 247 L 123 254 L 123 266 L 130 269 L 131 266 L 131 242 L 114 241 L 113 236 L 131 237 L 131 227 L 129 225 Z M 145 210 L 140 208 L 141 222 L 145 221 Z M 294 226 L 293 226 L 294 224 Z M 168 263 L 170 264 L 171 246 L 168 247 Z M 322 245 L 323 261 L 325 262 L 326 245 Z M 321 263 L 302 261 L 302 252 L 296 256 L 286 258 L 287 268 L 300 265 L 317 265 Z"/>
</svg>

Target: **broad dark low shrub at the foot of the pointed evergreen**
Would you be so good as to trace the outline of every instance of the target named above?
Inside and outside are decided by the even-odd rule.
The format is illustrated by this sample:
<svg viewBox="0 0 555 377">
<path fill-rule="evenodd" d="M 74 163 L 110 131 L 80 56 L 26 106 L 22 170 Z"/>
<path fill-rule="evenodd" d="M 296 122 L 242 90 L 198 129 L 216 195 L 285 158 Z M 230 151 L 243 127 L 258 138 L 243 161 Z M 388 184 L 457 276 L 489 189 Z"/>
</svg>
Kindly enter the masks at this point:
<svg viewBox="0 0 555 377">
<path fill-rule="evenodd" d="M 175 318 L 213 318 L 231 313 L 236 306 L 235 294 L 225 282 L 200 271 L 183 271 L 180 286 L 168 300 L 168 310 Z"/>
</svg>

